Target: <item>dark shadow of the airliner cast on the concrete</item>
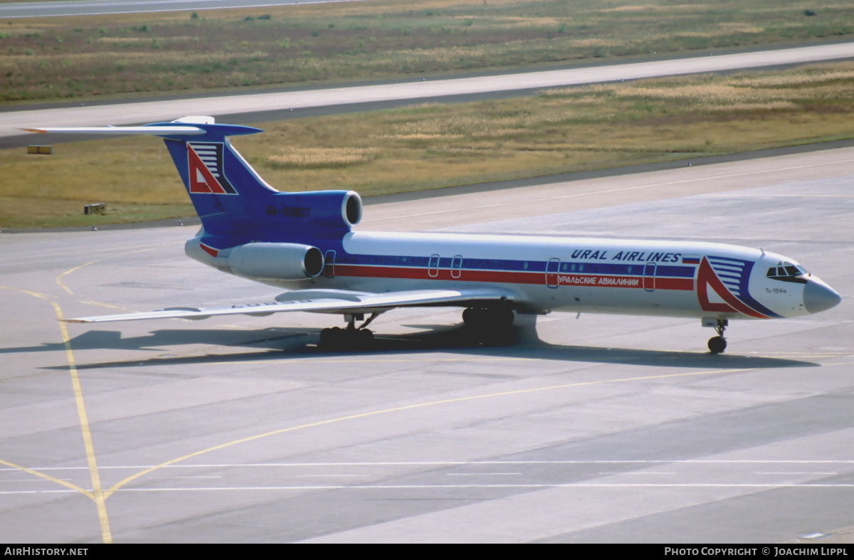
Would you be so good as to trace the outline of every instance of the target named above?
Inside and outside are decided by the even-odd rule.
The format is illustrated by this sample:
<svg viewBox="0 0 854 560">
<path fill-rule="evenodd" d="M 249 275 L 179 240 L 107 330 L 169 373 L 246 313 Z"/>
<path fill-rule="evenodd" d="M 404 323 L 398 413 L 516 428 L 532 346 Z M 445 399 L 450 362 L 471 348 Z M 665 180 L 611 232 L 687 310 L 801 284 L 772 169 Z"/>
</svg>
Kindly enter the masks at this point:
<svg viewBox="0 0 854 560">
<path fill-rule="evenodd" d="M 304 359 L 330 356 L 389 356 L 395 353 L 459 353 L 484 357 L 506 357 L 513 359 L 553 359 L 602 364 L 655 365 L 658 367 L 688 368 L 790 368 L 818 367 L 813 362 L 744 356 L 733 353 L 713 355 L 705 352 L 669 352 L 640 350 L 618 347 L 590 347 L 557 345 L 541 341 L 535 327 L 514 328 L 493 341 L 483 343 L 463 325 L 404 325 L 424 329 L 407 335 L 379 334 L 370 348 L 330 350 L 318 346 L 319 330 L 303 328 L 267 328 L 260 330 L 153 330 L 149 335 L 122 338 L 117 330 L 90 330 L 71 340 L 71 347 L 78 351 L 78 369 L 138 367 L 140 365 L 204 365 L 213 362 L 233 362 L 284 359 Z M 184 345 L 206 345 L 209 353 L 192 356 L 176 356 L 176 347 Z M 254 352 L 223 352 L 223 347 L 251 348 Z M 109 362 L 90 362 L 91 350 L 143 350 L 158 353 L 148 359 Z M 44 343 L 38 347 L 0 348 L 3 353 L 64 352 L 62 343 Z M 428 359 L 425 356 L 425 359 Z M 63 370 L 67 366 L 45 369 Z"/>
</svg>

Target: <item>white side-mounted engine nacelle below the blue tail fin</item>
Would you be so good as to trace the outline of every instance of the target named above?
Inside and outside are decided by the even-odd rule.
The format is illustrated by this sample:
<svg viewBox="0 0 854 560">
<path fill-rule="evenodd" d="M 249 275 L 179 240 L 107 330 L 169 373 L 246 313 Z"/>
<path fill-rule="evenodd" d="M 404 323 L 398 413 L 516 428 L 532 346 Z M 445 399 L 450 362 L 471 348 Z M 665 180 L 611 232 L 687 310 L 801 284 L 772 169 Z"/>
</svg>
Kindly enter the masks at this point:
<svg viewBox="0 0 854 560">
<path fill-rule="evenodd" d="M 214 259 L 214 265 L 230 269 L 232 273 L 243 277 L 305 280 L 323 272 L 324 258 L 320 249 L 311 245 L 246 243 L 221 251 Z"/>
</svg>

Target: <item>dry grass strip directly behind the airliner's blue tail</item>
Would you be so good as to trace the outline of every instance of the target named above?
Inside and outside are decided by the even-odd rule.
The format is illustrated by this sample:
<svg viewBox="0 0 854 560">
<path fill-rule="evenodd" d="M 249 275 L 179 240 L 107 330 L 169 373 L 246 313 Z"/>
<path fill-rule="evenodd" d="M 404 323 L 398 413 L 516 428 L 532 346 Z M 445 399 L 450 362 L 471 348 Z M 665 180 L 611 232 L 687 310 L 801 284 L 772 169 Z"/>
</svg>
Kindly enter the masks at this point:
<svg viewBox="0 0 854 560">
<path fill-rule="evenodd" d="M 854 137 L 854 62 L 544 90 L 539 95 L 260 123 L 235 145 L 279 190 L 441 188 Z M 160 142 L 0 151 L 0 226 L 192 213 Z M 26 197 L 26 198 L 25 198 Z M 84 216 L 89 202 L 107 216 Z"/>
</svg>

